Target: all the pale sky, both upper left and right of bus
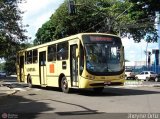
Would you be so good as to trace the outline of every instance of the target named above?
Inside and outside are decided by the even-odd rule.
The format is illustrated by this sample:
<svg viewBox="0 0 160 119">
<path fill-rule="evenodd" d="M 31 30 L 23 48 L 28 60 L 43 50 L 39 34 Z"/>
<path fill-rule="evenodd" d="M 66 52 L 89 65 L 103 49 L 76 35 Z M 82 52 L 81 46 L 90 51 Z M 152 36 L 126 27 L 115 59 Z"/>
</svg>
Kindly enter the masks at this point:
<svg viewBox="0 0 160 119">
<path fill-rule="evenodd" d="M 28 24 L 27 36 L 31 37 L 31 42 L 35 38 L 35 34 L 47 20 L 49 20 L 52 13 L 64 2 L 64 0 L 26 0 L 26 3 L 20 4 L 19 7 L 25 13 L 23 14 L 23 24 Z M 123 38 L 122 43 L 125 49 L 125 59 L 129 61 L 145 61 L 147 43 L 142 40 L 140 43 L 134 43 L 133 39 Z M 148 51 L 158 48 L 158 43 L 149 43 Z M 152 61 L 154 55 L 152 55 Z"/>
</svg>

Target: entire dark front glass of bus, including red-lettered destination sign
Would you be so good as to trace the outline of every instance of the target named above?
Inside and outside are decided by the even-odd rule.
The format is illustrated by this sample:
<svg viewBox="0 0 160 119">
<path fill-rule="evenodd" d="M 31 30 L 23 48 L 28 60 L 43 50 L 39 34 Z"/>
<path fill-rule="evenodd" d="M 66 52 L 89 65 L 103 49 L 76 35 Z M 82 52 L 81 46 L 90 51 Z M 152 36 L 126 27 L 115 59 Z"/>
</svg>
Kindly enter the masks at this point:
<svg viewBox="0 0 160 119">
<path fill-rule="evenodd" d="M 122 43 L 113 36 L 83 36 L 86 68 L 91 73 L 112 73 L 123 69 Z"/>
</svg>

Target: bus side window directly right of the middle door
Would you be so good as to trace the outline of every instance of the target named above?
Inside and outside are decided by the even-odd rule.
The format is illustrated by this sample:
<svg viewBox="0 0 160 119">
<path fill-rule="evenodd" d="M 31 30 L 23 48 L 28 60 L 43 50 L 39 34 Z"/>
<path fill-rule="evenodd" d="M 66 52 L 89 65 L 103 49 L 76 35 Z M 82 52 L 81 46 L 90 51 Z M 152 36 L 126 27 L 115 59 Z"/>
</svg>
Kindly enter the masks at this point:
<svg viewBox="0 0 160 119">
<path fill-rule="evenodd" d="M 56 61 L 56 45 L 48 46 L 48 61 Z"/>
</svg>

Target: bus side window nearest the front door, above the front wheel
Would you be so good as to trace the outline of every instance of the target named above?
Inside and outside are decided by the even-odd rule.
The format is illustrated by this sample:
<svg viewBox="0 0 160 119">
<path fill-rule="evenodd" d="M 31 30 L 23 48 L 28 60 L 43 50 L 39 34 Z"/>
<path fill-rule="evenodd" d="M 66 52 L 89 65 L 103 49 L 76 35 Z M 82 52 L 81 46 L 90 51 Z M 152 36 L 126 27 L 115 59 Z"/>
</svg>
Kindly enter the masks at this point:
<svg viewBox="0 0 160 119">
<path fill-rule="evenodd" d="M 68 42 L 57 45 L 57 60 L 66 60 L 68 58 Z"/>
</svg>

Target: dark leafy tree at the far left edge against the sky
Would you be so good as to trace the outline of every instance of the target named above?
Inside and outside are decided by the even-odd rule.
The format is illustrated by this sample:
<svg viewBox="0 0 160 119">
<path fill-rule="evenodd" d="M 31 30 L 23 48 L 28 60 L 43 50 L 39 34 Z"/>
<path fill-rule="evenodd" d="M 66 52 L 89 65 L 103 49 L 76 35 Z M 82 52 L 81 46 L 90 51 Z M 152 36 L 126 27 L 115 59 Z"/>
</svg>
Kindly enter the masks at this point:
<svg viewBox="0 0 160 119">
<path fill-rule="evenodd" d="M 22 25 L 22 12 L 18 9 L 21 0 L 0 0 L 0 57 L 8 58 L 15 54 L 20 41 L 27 37 Z"/>
</svg>

